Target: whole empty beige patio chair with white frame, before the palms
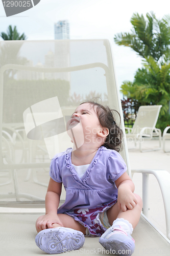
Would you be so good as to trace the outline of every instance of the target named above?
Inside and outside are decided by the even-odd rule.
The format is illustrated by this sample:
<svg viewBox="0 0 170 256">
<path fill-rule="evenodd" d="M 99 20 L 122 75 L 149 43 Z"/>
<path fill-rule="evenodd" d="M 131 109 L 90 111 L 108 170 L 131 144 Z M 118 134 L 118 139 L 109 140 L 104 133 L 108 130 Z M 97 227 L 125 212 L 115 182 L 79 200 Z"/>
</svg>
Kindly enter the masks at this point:
<svg viewBox="0 0 170 256">
<path fill-rule="evenodd" d="M 138 141 L 140 152 L 157 151 L 161 149 L 161 130 L 155 127 L 161 107 L 162 105 L 140 106 L 133 127 L 125 127 L 128 131 L 126 134 L 127 140 L 130 143 L 134 141 L 135 147 Z M 144 139 L 151 140 L 153 137 L 159 138 L 159 147 L 150 150 L 142 150 Z"/>
</svg>

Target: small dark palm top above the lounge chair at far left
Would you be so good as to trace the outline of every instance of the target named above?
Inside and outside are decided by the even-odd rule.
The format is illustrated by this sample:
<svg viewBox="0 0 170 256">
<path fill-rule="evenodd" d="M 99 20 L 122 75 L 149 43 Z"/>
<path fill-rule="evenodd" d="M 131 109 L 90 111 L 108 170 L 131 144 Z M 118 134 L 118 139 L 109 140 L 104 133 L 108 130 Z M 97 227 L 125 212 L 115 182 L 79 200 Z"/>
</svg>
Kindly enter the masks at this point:
<svg viewBox="0 0 170 256">
<path fill-rule="evenodd" d="M 24 33 L 19 35 L 16 26 L 14 26 L 14 29 L 12 29 L 11 25 L 7 29 L 7 34 L 5 32 L 2 32 L 1 37 L 4 40 L 26 40 L 26 35 Z"/>
</svg>

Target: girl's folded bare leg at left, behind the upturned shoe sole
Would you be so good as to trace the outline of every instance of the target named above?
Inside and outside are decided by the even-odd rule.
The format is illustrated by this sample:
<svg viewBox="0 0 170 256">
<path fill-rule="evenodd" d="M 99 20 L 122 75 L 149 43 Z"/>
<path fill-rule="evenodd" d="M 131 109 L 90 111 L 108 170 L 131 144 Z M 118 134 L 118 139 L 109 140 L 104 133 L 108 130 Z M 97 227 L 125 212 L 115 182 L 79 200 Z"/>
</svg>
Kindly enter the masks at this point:
<svg viewBox="0 0 170 256">
<path fill-rule="evenodd" d="M 37 227 L 37 222 L 40 221 L 42 219 L 42 217 L 43 216 L 40 216 L 36 221 L 36 230 L 37 230 L 37 232 L 41 231 L 41 229 L 39 229 Z M 83 225 L 81 225 L 78 221 L 75 221 L 69 215 L 67 215 L 67 214 L 58 214 L 58 217 L 59 217 L 60 221 L 63 223 L 63 227 L 72 228 L 72 229 L 81 231 L 83 234 L 86 234 L 86 228 Z M 56 224 L 56 223 L 54 223 L 52 226 L 53 226 L 53 228 L 61 227 L 61 225 Z M 48 227 L 46 227 L 46 228 L 48 228 Z"/>
</svg>

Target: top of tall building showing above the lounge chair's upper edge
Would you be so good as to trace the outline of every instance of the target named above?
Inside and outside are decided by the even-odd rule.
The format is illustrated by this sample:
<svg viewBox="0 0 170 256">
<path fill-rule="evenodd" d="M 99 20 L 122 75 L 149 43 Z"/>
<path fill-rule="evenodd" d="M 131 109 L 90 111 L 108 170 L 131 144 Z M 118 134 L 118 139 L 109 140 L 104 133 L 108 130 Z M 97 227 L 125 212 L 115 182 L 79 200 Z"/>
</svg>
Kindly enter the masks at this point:
<svg viewBox="0 0 170 256">
<path fill-rule="evenodd" d="M 69 23 L 67 20 L 59 20 L 54 24 L 55 39 L 69 39 Z"/>
</svg>

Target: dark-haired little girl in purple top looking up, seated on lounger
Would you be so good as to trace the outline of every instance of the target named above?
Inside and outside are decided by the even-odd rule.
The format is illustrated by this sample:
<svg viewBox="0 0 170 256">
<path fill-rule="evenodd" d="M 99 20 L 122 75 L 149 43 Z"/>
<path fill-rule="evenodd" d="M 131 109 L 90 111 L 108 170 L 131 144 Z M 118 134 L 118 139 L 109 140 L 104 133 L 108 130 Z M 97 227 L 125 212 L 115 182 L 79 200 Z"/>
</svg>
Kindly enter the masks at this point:
<svg viewBox="0 0 170 256">
<path fill-rule="evenodd" d="M 122 130 L 108 107 L 89 101 L 72 114 L 67 132 L 74 146 L 52 159 L 46 213 L 36 222 L 37 246 L 55 254 L 81 248 L 84 235 L 98 236 L 105 249 L 131 255 L 135 248 L 131 234 L 142 201 L 133 193 L 134 184 L 118 153 Z M 58 209 L 62 183 L 66 199 Z"/>
</svg>

